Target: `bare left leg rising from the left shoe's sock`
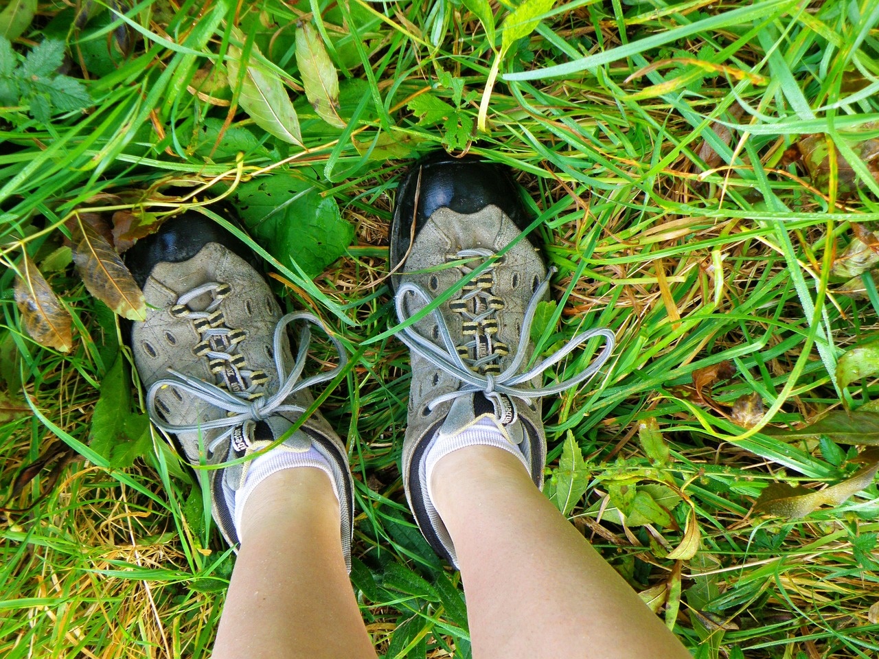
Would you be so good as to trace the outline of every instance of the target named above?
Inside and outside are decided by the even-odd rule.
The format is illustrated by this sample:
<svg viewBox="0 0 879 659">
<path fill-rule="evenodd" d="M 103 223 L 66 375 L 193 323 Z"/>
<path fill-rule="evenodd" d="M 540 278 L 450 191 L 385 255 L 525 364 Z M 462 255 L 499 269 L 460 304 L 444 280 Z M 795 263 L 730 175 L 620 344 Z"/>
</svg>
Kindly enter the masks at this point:
<svg viewBox="0 0 879 659">
<path fill-rule="evenodd" d="M 320 469 L 272 474 L 247 500 L 214 659 L 375 657 Z"/>
</svg>

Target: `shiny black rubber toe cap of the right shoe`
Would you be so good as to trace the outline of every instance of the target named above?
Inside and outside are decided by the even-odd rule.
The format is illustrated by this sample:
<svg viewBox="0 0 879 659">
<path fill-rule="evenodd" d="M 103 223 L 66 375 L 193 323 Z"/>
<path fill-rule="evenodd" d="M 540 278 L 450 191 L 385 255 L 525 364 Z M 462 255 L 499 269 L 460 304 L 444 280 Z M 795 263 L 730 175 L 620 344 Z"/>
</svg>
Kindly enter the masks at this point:
<svg viewBox="0 0 879 659">
<path fill-rule="evenodd" d="M 454 158 L 444 151 L 418 161 L 397 187 L 390 228 L 391 268 L 396 267 L 409 249 L 413 220 L 415 235 L 418 235 L 439 208 L 471 214 L 490 205 L 498 206 L 520 229 L 524 230 L 531 223 L 519 189 L 505 167 L 486 163 L 479 156 Z"/>
</svg>

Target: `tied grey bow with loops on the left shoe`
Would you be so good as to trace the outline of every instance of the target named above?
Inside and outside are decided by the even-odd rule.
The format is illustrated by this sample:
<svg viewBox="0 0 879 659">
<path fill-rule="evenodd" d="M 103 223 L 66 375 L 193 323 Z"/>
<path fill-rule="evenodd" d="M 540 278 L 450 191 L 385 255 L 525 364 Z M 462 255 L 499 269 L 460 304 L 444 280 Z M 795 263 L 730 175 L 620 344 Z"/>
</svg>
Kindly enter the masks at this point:
<svg viewBox="0 0 879 659">
<path fill-rule="evenodd" d="M 299 350 L 293 368 L 287 373 L 287 369 L 283 363 L 282 341 L 284 338 L 284 330 L 287 328 L 287 325 L 296 321 L 304 322 L 299 331 L 299 340 L 297 342 Z M 335 346 L 336 351 L 338 351 L 338 366 L 330 371 L 317 373 L 304 380 L 300 380 L 302 370 L 305 368 L 306 358 L 308 357 L 309 344 L 311 344 L 311 329 L 309 324 L 316 325 L 322 329 L 328 337 L 330 337 L 332 344 Z M 217 438 L 214 438 L 210 445 L 207 446 L 208 451 L 213 452 L 224 439 L 229 438 L 229 436 L 232 435 L 236 427 L 239 427 L 247 421 L 262 421 L 265 418 L 272 416 L 272 414 L 277 414 L 279 412 L 305 412 L 306 409 L 301 407 L 301 405 L 285 403 L 284 401 L 288 396 L 293 395 L 295 392 L 301 391 L 306 387 L 311 387 L 320 382 L 332 380 L 345 367 L 348 360 L 345 355 L 345 347 L 338 338 L 331 334 L 316 315 L 304 311 L 287 314 L 280 318 L 274 329 L 273 347 L 274 366 L 275 370 L 278 372 L 278 380 L 280 382 L 280 387 L 278 387 L 278 391 L 274 394 L 261 396 L 255 400 L 248 401 L 240 396 L 230 393 L 222 387 L 217 387 L 210 382 L 193 378 L 185 373 L 179 373 L 178 371 L 169 368 L 168 373 L 173 377 L 156 380 L 156 382 L 149 387 L 149 391 L 147 392 L 147 410 L 150 418 L 153 419 L 153 423 L 163 431 L 171 433 L 206 431 L 214 428 L 226 429 Z M 214 421 L 206 421 L 201 424 L 169 424 L 161 420 L 156 413 L 156 395 L 163 387 L 177 387 L 179 390 L 197 396 L 202 401 L 205 401 L 214 407 L 225 410 L 228 413 L 228 416 L 215 419 Z"/>
</svg>

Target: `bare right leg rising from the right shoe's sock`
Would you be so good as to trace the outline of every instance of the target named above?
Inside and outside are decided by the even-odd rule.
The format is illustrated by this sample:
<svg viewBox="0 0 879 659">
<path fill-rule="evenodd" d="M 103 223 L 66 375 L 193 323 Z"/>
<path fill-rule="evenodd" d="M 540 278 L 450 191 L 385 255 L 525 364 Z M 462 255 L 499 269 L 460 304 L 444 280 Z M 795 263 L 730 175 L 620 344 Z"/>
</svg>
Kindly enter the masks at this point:
<svg viewBox="0 0 879 659">
<path fill-rule="evenodd" d="M 432 495 L 461 564 L 474 656 L 690 659 L 512 454 L 449 453 Z"/>
</svg>

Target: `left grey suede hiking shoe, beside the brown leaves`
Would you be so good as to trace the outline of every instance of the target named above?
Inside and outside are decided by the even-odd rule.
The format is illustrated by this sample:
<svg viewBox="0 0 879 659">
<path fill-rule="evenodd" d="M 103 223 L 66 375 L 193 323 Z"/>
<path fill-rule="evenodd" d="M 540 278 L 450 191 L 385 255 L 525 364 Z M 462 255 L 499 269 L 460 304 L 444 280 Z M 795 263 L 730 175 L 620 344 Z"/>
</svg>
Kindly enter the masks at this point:
<svg viewBox="0 0 879 659">
<path fill-rule="evenodd" d="M 281 438 L 314 402 L 308 387 L 332 380 L 345 366 L 342 344 L 316 316 L 281 313 L 251 259 L 243 243 L 193 212 L 166 222 L 126 254 L 147 300 L 147 318 L 133 323 L 130 344 L 149 417 L 177 437 L 196 467 L 243 458 Z M 299 329 L 295 358 L 287 337 L 291 325 Z M 338 366 L 303 378 L 312 325 L 331 338 Z M 266 455 L 286 467 L 331 474 L 350 569 L 352 477 L 336 432 L 316 412 Z M 233 547 L 239 543 L 236 492 L 253 463 L 204 472 L 214 520 Z"/>
</svg>

